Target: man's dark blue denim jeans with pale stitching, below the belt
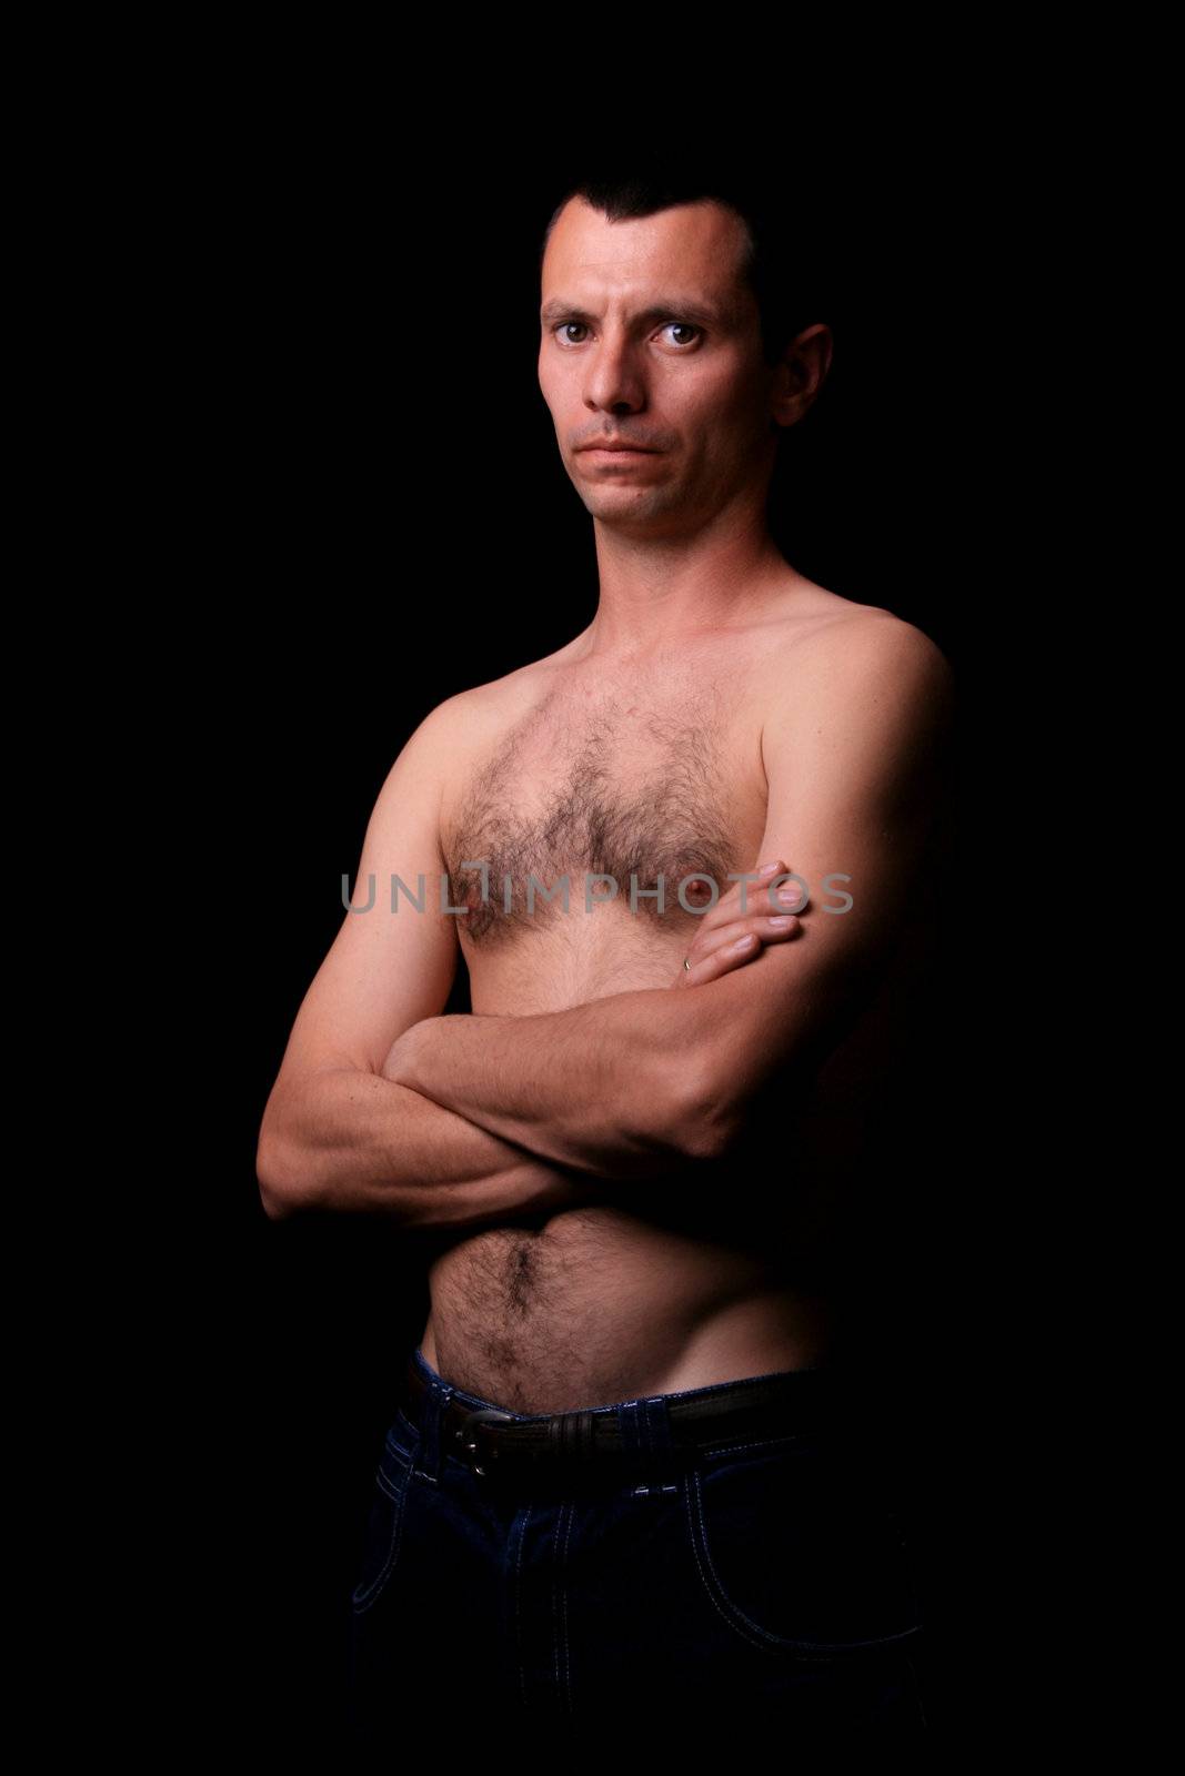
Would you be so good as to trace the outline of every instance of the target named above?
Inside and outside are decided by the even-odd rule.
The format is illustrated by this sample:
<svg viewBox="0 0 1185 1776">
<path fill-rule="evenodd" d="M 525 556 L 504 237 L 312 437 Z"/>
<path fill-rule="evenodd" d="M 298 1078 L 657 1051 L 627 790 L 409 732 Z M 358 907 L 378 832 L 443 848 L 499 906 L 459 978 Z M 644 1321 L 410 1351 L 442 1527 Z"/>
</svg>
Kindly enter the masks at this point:
<svg viewBox="0 0 1185 1776">
<path fill-rule="evenodd" d="M 730 1701 L 831 1737 L 926 1728 L 911 1558 L 860 1426 L 664 1447 L 677 1396 L 659 1394 L 597 1408 L 645 1414 L 652 1453 L 629 1474 L 593 1463 L 506 1490 L 441 1437 L 449 1396 L 497 1401 L 446 1384 L 419 1346 L 412 1360 L 430 1394 L 386 1433 L 350 1598 L 366 1746 L 389 1749 L 432 1705 L 464 1740 L 524 1712 L 702 1719 Z"/>
</svg>

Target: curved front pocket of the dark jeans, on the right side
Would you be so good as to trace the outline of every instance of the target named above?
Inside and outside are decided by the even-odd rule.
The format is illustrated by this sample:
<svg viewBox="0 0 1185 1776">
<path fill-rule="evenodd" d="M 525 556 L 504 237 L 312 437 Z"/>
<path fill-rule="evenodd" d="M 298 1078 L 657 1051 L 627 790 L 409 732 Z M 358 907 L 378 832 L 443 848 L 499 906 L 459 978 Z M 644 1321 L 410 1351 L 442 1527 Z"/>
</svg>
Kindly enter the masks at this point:
<svg viewBox="0 0 1185 1776">
<path fill-rule="evenodd" d="M 833 1657 L 922 1627 L 890 1502 L 815 1439 L 702 1456 L 688 1517 L 700 1586 L 752 1646 Z"/>
</svg>

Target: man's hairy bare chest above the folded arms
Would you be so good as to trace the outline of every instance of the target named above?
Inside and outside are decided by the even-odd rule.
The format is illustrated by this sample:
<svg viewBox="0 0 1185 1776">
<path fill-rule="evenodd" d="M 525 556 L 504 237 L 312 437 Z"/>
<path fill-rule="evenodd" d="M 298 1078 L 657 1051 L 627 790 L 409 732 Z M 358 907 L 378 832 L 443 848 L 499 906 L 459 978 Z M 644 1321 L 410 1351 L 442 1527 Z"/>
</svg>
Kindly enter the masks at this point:
<svg viewBox="0 0 1185 1776">
<path fill-rule="evenodd" d="M 558 677 L 458 773 L 441 840 L 473 961 L 679 948 L 766 817 L 760 694 L 732 664 L 677 682 Z M 640 982 L 641 984 L 641 982 Z"/>
</svg>

